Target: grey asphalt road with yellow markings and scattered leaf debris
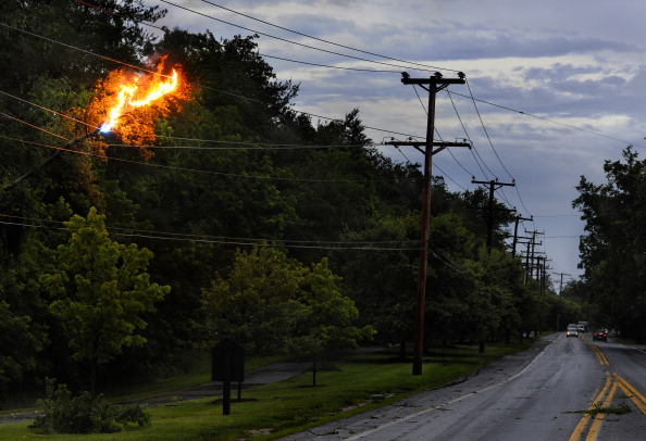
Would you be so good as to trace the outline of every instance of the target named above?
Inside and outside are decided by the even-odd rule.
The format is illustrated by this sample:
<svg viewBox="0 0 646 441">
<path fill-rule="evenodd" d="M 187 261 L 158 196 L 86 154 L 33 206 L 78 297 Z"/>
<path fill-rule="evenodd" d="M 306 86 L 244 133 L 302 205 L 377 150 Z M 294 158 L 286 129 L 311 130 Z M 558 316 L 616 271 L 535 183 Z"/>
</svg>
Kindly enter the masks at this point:
<svg viewBox="0 0 646 441">
<path fill-rule="evenodd" d="M 612 338 L 593 342 L 589 332 L 545 344 L 527 363 L 510 357 L 463 383 L 283 440 L 646 439 L 645 353 Z"/>
</svg>

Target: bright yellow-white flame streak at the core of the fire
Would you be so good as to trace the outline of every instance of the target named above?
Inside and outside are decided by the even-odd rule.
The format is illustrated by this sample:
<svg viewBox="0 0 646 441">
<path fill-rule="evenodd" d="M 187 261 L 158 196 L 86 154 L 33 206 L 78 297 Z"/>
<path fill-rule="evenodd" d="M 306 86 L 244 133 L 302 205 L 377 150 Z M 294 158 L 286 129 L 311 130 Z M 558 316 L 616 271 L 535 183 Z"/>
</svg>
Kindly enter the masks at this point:
<svg viewBox="0 0 646 441">
<path fill-rule="evenodd" d="M 150 105 L 179 87 L 179 75 L 175 70 L 171 76 L 162 75 L 163 62 L 156 74 L 136 75 L 127 84 L 120 85 L 115 103 L 108 111 L 108 121 L 100 127 L 101 133 L 108 133 L 119 125 L 119 118 L 137 108 Z"/>
</svg>

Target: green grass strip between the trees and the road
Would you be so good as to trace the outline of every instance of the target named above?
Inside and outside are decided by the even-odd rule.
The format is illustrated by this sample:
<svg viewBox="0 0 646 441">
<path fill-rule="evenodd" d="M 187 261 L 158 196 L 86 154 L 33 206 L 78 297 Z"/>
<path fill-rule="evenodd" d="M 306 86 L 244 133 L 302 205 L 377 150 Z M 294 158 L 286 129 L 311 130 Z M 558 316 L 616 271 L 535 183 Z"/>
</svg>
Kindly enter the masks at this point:
<svg viewBox="0 0 646 441">
<path fill-rule="evenodd" d="M 492 344 L 484 354 L 477 346 L 447 349 L 424 358 L 422 376 L 411 375 L 410 363 L 397 363 L 395 352 L 361 354 L 335 362 L 320 371 L 313 388 L 311 374 L 288 381 L 243 391 L 243 402 L 223 416 L 213 399 L 178 402 L 151 410 L 152 426 L 131 427 L 121 433 L 44 436 L 28 423 L 0 425 L 0 441 L 9 440 L 272 440 L 288 433 L 365 412 L 408 394 L 456 381 L 494 360 L 525 349 L 519 344 Z M 446 362 L 446 364 L 444 363 Z"/>
</svg>

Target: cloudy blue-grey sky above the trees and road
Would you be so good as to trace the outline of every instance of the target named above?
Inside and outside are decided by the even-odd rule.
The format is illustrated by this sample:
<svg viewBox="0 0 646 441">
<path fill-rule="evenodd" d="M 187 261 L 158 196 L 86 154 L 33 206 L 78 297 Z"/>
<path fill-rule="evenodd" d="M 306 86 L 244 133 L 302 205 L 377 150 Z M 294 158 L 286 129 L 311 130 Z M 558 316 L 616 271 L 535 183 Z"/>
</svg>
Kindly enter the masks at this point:
<svg viewBox="0 0 646 441">
<path fill-rule="evenodd" d="M 377 144 L 423 140 L 428 92 L 401 72 L 467 77 L 436 98 L 435 140 L 473 149 L 433 156 L 450 191 L 514 182 L 496 199 L 538 231 L 556 289 L 577 278 L 582 176 L 646 149 L 646 2 L 642 0 L 145 0 L 157 23 L 216 38 L 258 34 L 276 79 L 300 86 L 294 110 L 344 118 L 352 109 Z M 313 37 L 313 38 L 312 38 Z M 286 59 L 286 60 L 281 60 Z M 473 99 L 472 99 L 473 98 Z M 324 121 L 312 118 L 313 123 Z M 377 148 L 422 163 L 411 147 Z"/>
</svg>

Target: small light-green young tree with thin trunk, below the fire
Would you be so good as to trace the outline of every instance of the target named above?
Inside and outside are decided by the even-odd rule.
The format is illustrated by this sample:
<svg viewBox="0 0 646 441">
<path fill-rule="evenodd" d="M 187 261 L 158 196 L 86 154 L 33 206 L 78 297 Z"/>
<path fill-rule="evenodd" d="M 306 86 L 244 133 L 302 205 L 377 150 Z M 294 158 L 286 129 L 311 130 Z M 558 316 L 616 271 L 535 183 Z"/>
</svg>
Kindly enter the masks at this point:
<svg viewBox="0 0 646 441">
<path fill-rule="evenodd" d="M 146 342 L 137 333 L 146 327 L 141 316 L 153 311 L 170 287 L 150 282 L 146 269 L 152 253 L 110 239 L 96 209 L 65 226 L 71 237 L 57 249 L 55 263 L 41 282 L 54 299 L 50 310 L 69 333 L 73 358 L 90 365 L 95 395 L 97 368 L 123 346 Z"/>
</svg>

